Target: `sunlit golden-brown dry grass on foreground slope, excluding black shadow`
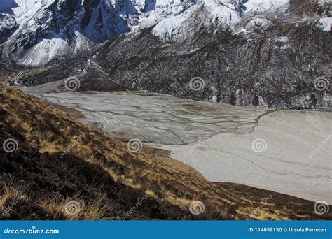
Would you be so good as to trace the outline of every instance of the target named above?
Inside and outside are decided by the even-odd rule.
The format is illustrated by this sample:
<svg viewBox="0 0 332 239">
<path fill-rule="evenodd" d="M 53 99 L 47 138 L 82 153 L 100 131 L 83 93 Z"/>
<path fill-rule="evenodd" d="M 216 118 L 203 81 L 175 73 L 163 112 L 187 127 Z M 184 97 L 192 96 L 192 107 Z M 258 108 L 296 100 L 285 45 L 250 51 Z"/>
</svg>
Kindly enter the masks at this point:
<svg viewBox="0 0 332 239">
<path fill-rule="evenodd" d="M 135 202 L 135 194 L 144 193 L 149 196 L 151 201 L 146 201 L 149 206 L 141 209 L 142 212 L 137 212 L 140 213 L 140 216 L 137 216 L 139 218 L 158 218 L 162 214 L 162 217 L 170 219 L 191 219 L 194 216 L 188 212 L 188 206 L 192 201 L 202 201 L 205 204 L 206 211 L 198 217 L 200 219 L 247 219 L 248 217 L 261 219 L 262 215 L 271 219 L 295 219 L 300 217 L 298 211 L 301 211 L 302 215 L 305 212 L 307 218 L 317 217 L 312 212 L 312 202 L 298 201 L 298 198 L 282 194 L 272 199 L 273 205 L 261 208 L 259 215 L 253 215 L 250 210 L 244 210 L 244 208 L 257 208 L 260 205 L 261 194 L 265 194 L 263 190 L 253 193 L 250 192 L 252 190 L 249 187 L 236 187 L 242 192 L 245 191 L 245 193 L 237 192 L 232 188 L 233 186 L 224 187 L 222 184 L 214 184 L 200 175 L 172 167 L 172 164 L 155 159 L 153 154 L 130 152 L 127 150 L 126 143 L 111 138 L 99 129 L 82 124 L 62 110 L 49 106 L 33 96 L 23 94 L 17 89 L 4 87 L 0 98 L 3 101 L 0 113 L 8 130 L 13 131 L 15 138 L 21 138 L 24 141 L 21 145 L 37 150 L 44 161 L 54 161 L 53 158 L 55 161 L 60 161 L 60 154 L 72 144 L 73 137 L 84 133 L 82 140 L 71 148 L 69 154 L 64 155 L 59 165 L 56 165 L 57 171 L 52 172 L 54 180 L 63 178 L 63 181 L 57 182 L 52 187 L 66 187 L 67 191 L 55 191 L 56 194 L 60 194 L 60 197 L 53 194 L 47 200 L 45 198 L 39 201 L 39 207 L 46 210 L 48 218 L 101 219 L 114 215 L 118 217 L 120 212 L 116 212 L 118 214 L 110 212 L 111 205 L 102 205 L 101 192 L 109 194 L 109 191 L 104 191 L 104 187 L 109 187 L 110 183 L 112 187 L 121 187 L 125 191 L 126 198 L 120 196 L 116 198 L 121 210 L 130 209 L 130 203 Z M 74 159 L 76 161 L 73 161 Z M 43 161 L 39 159 L 36 161 L 39 164 L 33 167 L 44 172 L 52 161 L 45 162 L 47 164 L 43 165 Z M 78 166 L 78 163 L 82 167 L 88 167 L 88 171 L 78 175 L 77 178 L 83 184 L 87 184 L 85 181 L 95 173 L 100 173 L 100 177 L 108 178 L 106 184 L 98 184 L 98 190 L 93 192 L 95 201 L 90 201 L 85 189 L 90 187 L 89 190 L 93 191 L 93 187 L 96 186 L 89 184 L 80 186 L 76 181 L 66 181 L 66 171 L 74 171 L 74 174 L 79 172 L 81 166 Z M 94 173 L 91 173 L 92 171 Z M 50 172 L 46 171 L 46 173 Z M 19 176 L 21 175 L 17 175 Z M 43 180 L 40 173 L 36 173 L 35 177 Z M 50 180 L 48 184 L 53 184 L 54 180 Z M 45 186 L 39 188 L 39 191 L 49 193 Z M 72 192 L 69 194 L 68 191 L 75 191 L 77 196 Z M 113 198 L 118 194 L 120 193 L 114 194 Z M 110 197 L 107 197 L 110 200 Z M 63 205 L 69 198 L 81 201 L 82 211 L 78 215 L 69 217 L 63 214 Z M 296 201 L 296 203 L 289 205 L 289 201 Z M 157 210 L 153 207 L 158 208 L 158 213 L 153 214 Z"/>
</svg>

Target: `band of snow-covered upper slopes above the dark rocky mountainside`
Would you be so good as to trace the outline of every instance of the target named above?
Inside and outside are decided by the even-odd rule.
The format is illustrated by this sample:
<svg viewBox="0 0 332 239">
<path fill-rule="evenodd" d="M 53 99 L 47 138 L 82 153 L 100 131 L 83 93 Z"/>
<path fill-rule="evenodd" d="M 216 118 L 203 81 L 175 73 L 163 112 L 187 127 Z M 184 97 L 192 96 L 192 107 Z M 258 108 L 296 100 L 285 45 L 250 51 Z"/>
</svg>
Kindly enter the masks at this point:
<svg viewBox="0 0 332 239">
<path fill-rule="evenodd" d="M 276 11 L 288 4 L 289 0 L 1 0 L 2 17 L 9 15 L 17 23 L 10 29 L 0 27 L 2 58 L 41 66 L 153 25 L 155 36 L 181 42 L 198 27 L 218 31 L 239 24 L 244 14 Z"/>
</svg>

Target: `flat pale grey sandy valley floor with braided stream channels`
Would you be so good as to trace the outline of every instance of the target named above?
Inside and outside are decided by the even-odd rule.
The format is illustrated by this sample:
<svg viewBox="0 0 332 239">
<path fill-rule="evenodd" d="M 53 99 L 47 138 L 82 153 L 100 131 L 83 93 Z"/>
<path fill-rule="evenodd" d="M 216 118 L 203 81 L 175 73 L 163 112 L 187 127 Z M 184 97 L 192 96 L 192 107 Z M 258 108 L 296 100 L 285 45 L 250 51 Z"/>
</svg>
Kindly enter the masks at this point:
<svg viewBox="0 0 332 239">
<path fill-rule="evenodd" d="M 123 140 L 138 139 L 210 181 L 332 204 L 332 113 L 237 107 L 146 92 L 41 93 Z"/>
</svg>

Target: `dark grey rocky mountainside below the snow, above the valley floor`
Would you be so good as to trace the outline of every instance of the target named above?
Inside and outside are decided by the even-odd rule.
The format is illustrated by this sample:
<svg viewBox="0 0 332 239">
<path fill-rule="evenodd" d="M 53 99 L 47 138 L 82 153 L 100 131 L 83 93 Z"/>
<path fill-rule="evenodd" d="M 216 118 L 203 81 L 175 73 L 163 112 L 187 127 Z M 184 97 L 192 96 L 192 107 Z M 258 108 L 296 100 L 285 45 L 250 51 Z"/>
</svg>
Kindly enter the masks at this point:
<svg viewBox="0 0 332 239">
<path fill-rule="evenodd" d="M 271 20 L 268 29 L 249 35 L 202 29 L 181 45 L 146 29 L 113 39 L 93 61 L 127 88 L 244 106 L 330 110 L 331 34 Z"/>
</svg>

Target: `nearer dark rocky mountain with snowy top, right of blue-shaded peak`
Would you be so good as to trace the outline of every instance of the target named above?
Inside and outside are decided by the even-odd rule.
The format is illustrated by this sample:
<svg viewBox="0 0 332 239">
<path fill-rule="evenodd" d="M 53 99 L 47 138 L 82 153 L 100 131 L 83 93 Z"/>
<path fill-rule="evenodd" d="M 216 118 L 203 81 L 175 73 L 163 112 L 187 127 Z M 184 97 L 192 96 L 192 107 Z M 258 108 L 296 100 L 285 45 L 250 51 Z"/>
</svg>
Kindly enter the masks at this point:
<svg viewBox="0 0 332 239">
<path fill-rule="evenodd" d="M 87 55 L 50 61 L 20 82 L 76 76 L 80 90 L 143 89 L 242 106 L 331 110 L 329 1 L 135 4 L 144 8 L 137 18 L 127 15 L 129 33 L 112 35 Z"/>
</svg>

